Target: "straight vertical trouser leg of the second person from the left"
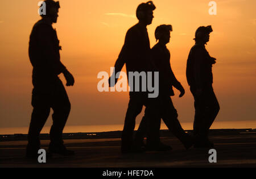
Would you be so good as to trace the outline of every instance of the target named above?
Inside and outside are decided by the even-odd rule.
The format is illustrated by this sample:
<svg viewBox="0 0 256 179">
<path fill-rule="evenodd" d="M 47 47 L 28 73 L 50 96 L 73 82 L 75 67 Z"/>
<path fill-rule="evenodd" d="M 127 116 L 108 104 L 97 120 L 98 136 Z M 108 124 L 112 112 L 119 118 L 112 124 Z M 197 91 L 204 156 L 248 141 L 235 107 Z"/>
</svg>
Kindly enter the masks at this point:
<svg viewBox="0 0 256 179">
<path fill-rule="evenodd" d="M 135 128 L 135 119 L 141 113 L 143 99 L 139 96 L 130 97 L 128 109 L 125 116 L 125 124 L 122 131 L 122 152 L 131 150 L 133 145 L 133 132 Z"/>
</svg>

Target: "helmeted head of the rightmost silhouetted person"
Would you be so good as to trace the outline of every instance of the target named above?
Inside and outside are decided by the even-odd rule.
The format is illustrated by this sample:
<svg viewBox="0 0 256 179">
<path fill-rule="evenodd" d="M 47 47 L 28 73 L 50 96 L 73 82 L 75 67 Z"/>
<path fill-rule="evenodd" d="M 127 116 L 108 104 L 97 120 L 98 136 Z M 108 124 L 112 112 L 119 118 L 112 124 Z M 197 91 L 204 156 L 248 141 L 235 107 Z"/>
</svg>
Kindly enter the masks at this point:
<svg viewBox="0 0 256 179">
<path fill-rule="evenodd" d="M 209 41 L 210 32 L 212 31 L 212 26 L 201 26 L 197 28 L 194 40 L 196 41 L 196 43 L 206 44 Z"/>
</svg>

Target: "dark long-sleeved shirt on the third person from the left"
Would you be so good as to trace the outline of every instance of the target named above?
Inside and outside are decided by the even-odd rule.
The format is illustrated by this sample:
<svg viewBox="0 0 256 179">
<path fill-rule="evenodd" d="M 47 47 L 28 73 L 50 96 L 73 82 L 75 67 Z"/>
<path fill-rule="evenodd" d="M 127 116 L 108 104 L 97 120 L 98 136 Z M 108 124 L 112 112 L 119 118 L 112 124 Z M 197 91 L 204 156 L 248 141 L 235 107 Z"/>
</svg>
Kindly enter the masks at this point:
<svg viewBox="0 0 256 179">
<path fill-rule="evenodd" d="M 154 64 L 159 71 L 159 94 L 174 95 L 172 86 L 177 89 L 182 88 L 182 86 L 172 71 L 170 51 L 166 45 L 157 43 L 151 49 L 151 54 Z"/>
</svg>

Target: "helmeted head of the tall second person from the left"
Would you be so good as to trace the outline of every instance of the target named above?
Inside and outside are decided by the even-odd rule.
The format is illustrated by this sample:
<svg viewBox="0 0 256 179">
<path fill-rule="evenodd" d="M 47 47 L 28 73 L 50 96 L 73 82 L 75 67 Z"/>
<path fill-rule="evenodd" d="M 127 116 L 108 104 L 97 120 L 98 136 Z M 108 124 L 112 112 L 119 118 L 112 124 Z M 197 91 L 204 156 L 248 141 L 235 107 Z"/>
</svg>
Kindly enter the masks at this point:
<svg viewBox="0 0 256 179">
<path fill-rule="evenodd" d="M 153 11 L 155 8 L 156 7 L 152 1 L 141 3 L 136 10 L 136 16 L 139 19 L 139 22 L 142 22 L 146 25 L 151 24 L 154 18 Z"/>
</svg>

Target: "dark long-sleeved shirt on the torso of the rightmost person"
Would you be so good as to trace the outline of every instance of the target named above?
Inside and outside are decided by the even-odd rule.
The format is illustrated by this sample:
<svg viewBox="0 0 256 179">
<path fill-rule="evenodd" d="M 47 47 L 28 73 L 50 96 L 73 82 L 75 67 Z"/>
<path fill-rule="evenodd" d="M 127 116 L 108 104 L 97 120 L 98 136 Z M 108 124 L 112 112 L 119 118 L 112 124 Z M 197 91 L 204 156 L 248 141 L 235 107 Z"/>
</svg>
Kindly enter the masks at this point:
<svg viewBox="0 0 256 179">
<path fill-rule="evenodd" d="M 204 45 L 195 44 L 188 55 L 187 81 L 189 86 L 204 88 L 213 83 L 213 61 Z"/>
</svg>

